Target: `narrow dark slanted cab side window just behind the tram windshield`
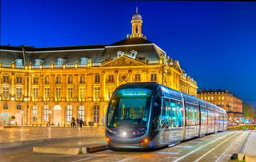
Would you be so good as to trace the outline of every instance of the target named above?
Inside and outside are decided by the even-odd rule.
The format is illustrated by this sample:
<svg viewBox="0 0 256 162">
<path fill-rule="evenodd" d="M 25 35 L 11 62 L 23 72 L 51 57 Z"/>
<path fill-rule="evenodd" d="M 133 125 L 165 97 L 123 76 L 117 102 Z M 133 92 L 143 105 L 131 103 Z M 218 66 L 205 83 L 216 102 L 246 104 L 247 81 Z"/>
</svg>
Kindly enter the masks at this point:
<svg viewBox="0 0 256 162">
<path fill-rule="evenodd" d="M 157 99 L 155 100 L 154 104 L 154 110 L 153 110 L 153 118 L 152 118 L 152 128 L 157 128 L 158 121 L 161 116 L 161 109 L 162 108 L 162 98 L 160 96 L 157 96 Z"/>
</svg>

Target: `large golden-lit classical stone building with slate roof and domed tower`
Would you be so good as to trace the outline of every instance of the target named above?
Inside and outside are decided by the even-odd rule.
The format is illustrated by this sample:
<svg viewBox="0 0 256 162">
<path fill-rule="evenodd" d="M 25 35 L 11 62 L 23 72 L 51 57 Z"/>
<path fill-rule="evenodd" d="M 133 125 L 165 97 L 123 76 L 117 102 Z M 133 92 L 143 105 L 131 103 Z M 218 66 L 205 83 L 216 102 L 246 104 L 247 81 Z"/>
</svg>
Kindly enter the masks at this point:
<svg viewBox="0 0 256 162">
<path fill-rule="evenodd" d="M 24 110 L 29 125 L 64 126 L 72 117 L 103 125 L 114 89 L 128 82 L 158 82 L 196 96 L 196 81 L 142 34 L 138 10 L 131 23 L 132 34 L 111 45 L 1 46 L 1 119 L 8 124 L 15 116 L 20 124 Z"/>
</svg>

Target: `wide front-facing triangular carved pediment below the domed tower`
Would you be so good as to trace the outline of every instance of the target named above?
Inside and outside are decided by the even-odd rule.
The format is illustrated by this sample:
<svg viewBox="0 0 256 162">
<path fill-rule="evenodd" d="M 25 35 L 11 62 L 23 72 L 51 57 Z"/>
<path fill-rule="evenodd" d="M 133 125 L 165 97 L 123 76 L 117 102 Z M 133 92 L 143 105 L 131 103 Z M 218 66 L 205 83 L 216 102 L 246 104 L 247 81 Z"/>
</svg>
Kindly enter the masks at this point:
<svg viewBox="0 0 256 162">
<path fill-rule="evenodd" d="M 146 64 L 143 64 L 128 56 L 123 55 L 106 64 L 101 65 L 101 67 L 123 67 L 123 66 L 144 66 L 144 65 Z"/>
</svg>

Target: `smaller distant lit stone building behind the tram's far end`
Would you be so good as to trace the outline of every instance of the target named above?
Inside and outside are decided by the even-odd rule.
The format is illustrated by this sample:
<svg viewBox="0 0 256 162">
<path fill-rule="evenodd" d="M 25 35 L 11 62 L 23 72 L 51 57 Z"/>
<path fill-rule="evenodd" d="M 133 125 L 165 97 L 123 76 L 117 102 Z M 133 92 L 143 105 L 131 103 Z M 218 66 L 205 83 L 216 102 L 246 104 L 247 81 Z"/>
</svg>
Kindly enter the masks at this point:
<svg viewBox="0 0 256 162">
<path fill-rule="evenodd" d="M 203 90 L 197 91 L 197 98 L 203 99 L 210 103 L 213 103 L 227 112 L 228 124 L 241 123 L 242 113 L 242 99 L 233 95 L 228 90 Z"/>
</svg>

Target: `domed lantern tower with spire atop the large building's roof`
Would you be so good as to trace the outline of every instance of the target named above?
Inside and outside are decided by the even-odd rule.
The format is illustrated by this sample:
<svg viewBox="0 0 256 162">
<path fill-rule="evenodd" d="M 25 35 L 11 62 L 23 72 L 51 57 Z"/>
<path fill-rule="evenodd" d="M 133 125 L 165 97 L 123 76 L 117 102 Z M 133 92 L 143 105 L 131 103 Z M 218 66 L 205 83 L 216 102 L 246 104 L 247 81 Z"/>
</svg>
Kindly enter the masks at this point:
<svg viewBox="0 0 256 162">
<path fill-rule="evenodd" d="M 138 14 L 138 7 L 136 8 L 136 13 L 132 16 L 132 34 L 127 35 L 127 38 L 144 38 L 146 36 L 142 34 L 142 16 Z"/>
</svg>

